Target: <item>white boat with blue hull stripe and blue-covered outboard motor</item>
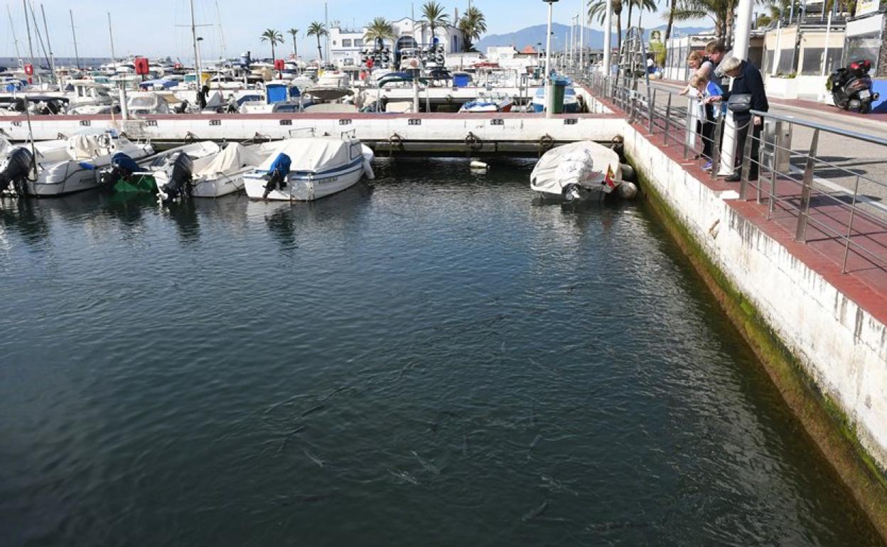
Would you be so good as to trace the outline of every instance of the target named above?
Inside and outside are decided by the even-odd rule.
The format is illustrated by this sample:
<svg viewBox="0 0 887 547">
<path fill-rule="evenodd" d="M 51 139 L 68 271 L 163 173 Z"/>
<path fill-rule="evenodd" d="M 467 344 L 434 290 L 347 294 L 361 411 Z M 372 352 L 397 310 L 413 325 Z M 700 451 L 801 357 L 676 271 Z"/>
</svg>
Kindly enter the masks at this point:
<svg viewBox="0 0 887 547">
<path fill-rule="evenodd" d="M 356 137 L 292 138 L 243 178 L 252 199 L 312 201 L 372 179 L 372 161 Z"/>
</svg>

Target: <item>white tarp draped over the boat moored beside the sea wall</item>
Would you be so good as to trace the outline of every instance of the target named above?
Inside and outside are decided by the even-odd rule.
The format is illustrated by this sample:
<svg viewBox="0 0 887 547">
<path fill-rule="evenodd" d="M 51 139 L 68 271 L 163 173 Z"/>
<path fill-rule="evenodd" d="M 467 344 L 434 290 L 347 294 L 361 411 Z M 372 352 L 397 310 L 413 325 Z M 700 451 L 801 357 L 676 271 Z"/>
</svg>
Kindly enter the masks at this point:
<svg viewBox="0 0 887 547">
<path fill-rule="evenodd" d="M 604 145 L 581 141 L 558 146 L 538 160 L 530 174 L 530 188 L 561 193 L 561 188 L 567 184 L 600 184 L 607 175 L 607 168 L 613 170 L 616 181 L 622 178 L 619 155 Z"/>
</svg>

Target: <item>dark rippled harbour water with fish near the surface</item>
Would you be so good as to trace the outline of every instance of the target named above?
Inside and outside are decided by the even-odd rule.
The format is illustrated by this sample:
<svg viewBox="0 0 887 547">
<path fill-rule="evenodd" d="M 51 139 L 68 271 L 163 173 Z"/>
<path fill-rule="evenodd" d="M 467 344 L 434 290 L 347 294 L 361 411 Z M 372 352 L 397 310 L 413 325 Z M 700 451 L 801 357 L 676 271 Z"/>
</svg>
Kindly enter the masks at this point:
<svg viewBox="0 0 887 547">
<path fill-rule="evenodd" d="M 881 544 L 640 206 L 0 204 L 3 545 Z"/>
</svg>

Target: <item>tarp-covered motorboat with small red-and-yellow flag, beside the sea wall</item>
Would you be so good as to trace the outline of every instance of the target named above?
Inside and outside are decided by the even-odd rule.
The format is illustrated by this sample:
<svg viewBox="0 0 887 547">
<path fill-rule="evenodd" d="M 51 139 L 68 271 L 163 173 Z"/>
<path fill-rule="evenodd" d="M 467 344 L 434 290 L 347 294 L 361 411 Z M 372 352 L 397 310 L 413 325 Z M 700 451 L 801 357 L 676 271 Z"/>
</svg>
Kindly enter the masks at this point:
<svg viewBox="0 0 887 547">
<path fill-rule="evenodd" d="M 530 189 L 543 199 L 569 202 L 605 194 L 632 199 L 638 190 L 623 181 L 619 155 L 593 141 L 558 146 L 543 154 L 530 173 Z"/>
</svg>

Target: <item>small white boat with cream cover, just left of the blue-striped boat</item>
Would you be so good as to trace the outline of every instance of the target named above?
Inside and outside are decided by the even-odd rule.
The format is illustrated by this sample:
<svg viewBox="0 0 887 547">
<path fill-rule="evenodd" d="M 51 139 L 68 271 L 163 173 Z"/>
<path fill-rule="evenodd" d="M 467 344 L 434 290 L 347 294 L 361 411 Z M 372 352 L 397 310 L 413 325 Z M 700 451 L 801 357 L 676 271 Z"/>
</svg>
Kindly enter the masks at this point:
<svg viewBox="0 0 887 547">
<path fill-rule="evenodd" d="M 279 148 L 280 142 L 246 146 L 229 143 L 223 150 L 193 160 L 191 197 L 219 198 L 243 190 L 243 176 L 258 168 Z M 172 165 L 155 171 L 153 175 L 159 190 L 158 196 L 161 200 L 169 199 L 163 189 L 172 176 Z"/>
</svg>

